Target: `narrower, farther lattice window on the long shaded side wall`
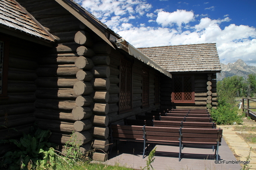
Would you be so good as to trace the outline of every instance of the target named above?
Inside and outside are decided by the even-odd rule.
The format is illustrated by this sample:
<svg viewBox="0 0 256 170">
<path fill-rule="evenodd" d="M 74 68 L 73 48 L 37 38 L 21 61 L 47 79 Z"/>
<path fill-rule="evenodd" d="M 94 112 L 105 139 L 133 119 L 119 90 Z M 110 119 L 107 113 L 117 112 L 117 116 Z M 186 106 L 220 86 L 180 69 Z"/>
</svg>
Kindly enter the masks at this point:
<svg viewBox="0 0 256 170">
<path fill-rule="evenodd" d="M 142 68 L 142 107 L 149 107 L 149 69 Z"/>
</svg>

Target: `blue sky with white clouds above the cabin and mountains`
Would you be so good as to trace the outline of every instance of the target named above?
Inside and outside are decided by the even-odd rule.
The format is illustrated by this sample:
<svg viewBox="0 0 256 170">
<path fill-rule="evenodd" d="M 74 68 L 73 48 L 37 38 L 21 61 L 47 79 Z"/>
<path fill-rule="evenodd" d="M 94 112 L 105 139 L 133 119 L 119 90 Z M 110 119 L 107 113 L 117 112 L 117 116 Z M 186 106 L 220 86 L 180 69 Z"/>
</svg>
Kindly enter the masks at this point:
<svg viewBox="0 0 256 170">
<path fill-rule="evenodd" d="M 135 47 L 216 43 L 256 66 L 256 0 L 76 0 Z"/>
</svg>

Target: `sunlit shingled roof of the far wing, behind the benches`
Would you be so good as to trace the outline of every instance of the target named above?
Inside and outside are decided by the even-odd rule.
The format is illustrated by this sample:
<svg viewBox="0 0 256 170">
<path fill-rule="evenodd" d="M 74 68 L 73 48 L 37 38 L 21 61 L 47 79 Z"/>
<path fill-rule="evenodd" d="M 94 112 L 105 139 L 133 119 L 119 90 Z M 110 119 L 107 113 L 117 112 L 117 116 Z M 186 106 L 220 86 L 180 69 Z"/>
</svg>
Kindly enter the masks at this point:
<svg viewBox="0 0 256 170">
<path fill-rule="evenodd" d="M 216 43 L 138 48 L 168 72 L 220 72 Z"/>
</svg>

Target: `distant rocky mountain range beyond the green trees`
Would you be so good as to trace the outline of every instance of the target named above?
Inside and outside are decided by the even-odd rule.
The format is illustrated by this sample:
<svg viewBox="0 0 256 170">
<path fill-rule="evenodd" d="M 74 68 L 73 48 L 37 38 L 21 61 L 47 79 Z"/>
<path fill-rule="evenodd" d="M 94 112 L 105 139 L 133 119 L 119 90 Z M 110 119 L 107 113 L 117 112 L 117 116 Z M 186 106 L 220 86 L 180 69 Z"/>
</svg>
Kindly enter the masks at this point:
<svg viewBox="0 0 256 170">
<path fill-rule="evenodd" d="M 235 63 L 228 63 L 227 65 L 221 63 L 221 67 L 221 73 L 217 73 L 217 81 L 221 81 L 224 78 L 231 77 L 233 75 L 247 78 L 249 74 L 256 74 L 256 66 L 249 66 L 241 59 L 238 59 Z"/>
</svg>

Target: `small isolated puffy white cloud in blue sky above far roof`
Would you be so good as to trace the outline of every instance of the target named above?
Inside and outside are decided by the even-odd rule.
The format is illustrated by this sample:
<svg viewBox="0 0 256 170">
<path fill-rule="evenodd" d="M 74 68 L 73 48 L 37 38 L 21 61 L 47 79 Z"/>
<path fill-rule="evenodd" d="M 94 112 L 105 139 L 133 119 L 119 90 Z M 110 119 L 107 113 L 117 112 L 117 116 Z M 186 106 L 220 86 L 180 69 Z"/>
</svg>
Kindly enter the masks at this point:
<svg viewBox="0 0 256 170">
<path fill-rule="evenodd" d="M 179 10 L 175 12 L 159 12 L 157 14 L 156 22 L 162 26 L 172 26 L 176 23 L 179 27 L 182 26 L 182 23 L 187 24 L 191 21 L 194 21 L 194 13 L 192 11 Z"/>
</svg>

